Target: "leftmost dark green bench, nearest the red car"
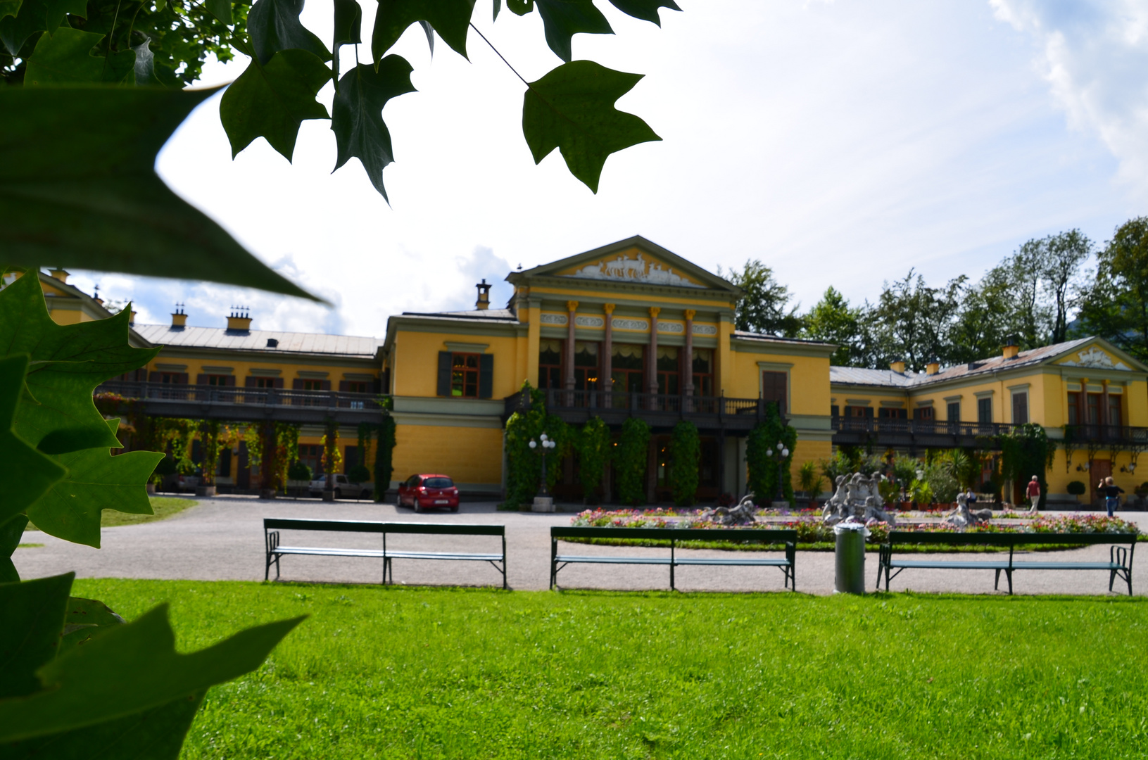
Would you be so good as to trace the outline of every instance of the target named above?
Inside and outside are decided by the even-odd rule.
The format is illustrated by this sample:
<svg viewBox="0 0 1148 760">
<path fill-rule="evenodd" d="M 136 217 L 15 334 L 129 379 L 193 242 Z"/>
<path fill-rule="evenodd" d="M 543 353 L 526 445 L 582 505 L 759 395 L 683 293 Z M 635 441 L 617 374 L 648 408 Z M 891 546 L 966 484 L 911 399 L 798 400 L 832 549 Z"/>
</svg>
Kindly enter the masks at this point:
<svg viewBox="0 0 1148 760">
<path fill-rule="evenodd" d="M 321 530 L 335 533 L 377 533 L 382 537 L 379 549 L 341 549 L 336 546 L 285 546 L 279 542 L 280 530 Z M 451 535 L 451 536 L 498 536 L 502 552 L 458 551 L 406 551 L 387 548 L 387 536 L 395 534 Z M 443 522 L 379 522 L 367 520 L 295 520 L 264 518 L 263 537 L 266 548 L 266 569 L 263 580 L 270 580 L 271 565 L 276 566 L 279 579 L 279 560 L 285 555 L 326 557 L 375 557 L 382 559 L 382 582 L 395 582 L 391 560 L 395 559 L 456 559 L 461 561 L 486 561 L 502 573 L 506 588 L 506 527 L 502 525 L 460 525 Z"/>
</svg>

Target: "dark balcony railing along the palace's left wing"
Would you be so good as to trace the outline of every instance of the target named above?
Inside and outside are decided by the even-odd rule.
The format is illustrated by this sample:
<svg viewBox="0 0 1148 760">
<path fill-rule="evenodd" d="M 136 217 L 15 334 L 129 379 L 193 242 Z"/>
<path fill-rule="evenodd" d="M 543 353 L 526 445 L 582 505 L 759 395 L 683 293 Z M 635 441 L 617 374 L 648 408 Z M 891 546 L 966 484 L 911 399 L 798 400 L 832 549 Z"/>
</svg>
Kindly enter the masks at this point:
<svg viewBox="0 0 1148 760">
<path fill-rule="evenodd" d="M 342 390 L 288 390 L 284 388 L 110 381 L 98 387 L 95 393 L 116 394 L 124 398 L 246 406 L 320 406 L 326 409 L 362 409 L 364 411 L 382 409 L 379 397 L 373 394 Z"/>
</svg>

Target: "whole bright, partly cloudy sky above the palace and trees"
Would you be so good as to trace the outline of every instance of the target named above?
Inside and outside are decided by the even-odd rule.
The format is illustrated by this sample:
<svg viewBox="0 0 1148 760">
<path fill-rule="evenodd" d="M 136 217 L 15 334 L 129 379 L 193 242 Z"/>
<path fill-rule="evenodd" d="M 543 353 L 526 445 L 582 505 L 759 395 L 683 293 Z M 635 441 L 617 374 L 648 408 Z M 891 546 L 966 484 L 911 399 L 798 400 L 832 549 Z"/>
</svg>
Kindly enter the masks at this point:
<svg viewBox="0 0 1148 760">
<path fill-rule="evenodd" d="M 633 234 L 711 270 L 760 258 L 807 308 L 830 285 L 874 298 L 909 267 L 976 278 L 1030 238 L 1079 227 L 1103 241 L 1148 212 L 1143 0 L 678 2 L 661 29 L 607 6 L 615 36 L 574 38 L 575 59 L 646 75 L 619 107 L 664 138 L 612 156 L 597 195 L 557 152 L 534 165 L 522 85 L 476 34 L 467 62 L 441 41 L 432 59 L 414 29 L 398 52 L 419 92 L 383 111 L 390 207 L 357 161 L 331 173 L 327 122 L 304 123 L 294 165 L 262 139 L 232 161 L 218 98 L 160 156 L 178 193 L 332 307 L 73 281 L 134 298 L 141 321 L 166 321 L 179 301 L 191 324 L 222 326 L 243 304 L 256 327 L 381 336 L 391 313 L 470 308 L 482 277 L 505 302 L 519 263 Z M 523 76 L 559 63 L 537 14 L 491 23 L 489 5 L 475 23 Z M 328 8 L 303 15 L 323 38 Z M 211 65 L 204 83 L 243 65 Z"/>
</svg>

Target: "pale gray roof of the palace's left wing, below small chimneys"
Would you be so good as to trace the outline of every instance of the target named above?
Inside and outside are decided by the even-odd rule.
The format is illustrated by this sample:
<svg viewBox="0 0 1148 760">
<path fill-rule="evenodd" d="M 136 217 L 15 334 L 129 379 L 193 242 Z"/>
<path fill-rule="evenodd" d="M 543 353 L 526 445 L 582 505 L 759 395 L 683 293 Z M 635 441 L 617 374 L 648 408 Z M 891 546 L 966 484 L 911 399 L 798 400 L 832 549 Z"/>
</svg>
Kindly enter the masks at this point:
<svg viewBox="0 0 1148 760">
<path fill-rule="evenodd" d="M 135 325 L 135 332 L 145 340 L 161 346 L 265 351 L 267 354 L 329 354 L 333 356 L 373 357 L 379 347 L 382 346 L 382 341 L 378 338 L 285 333 L 273 329 Z M 279 344 L 273 348 L 269 347 L 269 339 L 279 341 Z"/>
</svg>

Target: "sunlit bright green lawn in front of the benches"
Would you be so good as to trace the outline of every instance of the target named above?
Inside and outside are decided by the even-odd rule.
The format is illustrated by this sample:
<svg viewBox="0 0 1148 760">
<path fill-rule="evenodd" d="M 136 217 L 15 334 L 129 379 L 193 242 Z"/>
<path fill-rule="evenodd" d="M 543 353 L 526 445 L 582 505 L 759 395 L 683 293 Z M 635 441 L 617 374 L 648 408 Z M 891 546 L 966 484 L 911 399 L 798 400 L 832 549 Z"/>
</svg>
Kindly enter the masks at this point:
<svg viewBox="0 0 1148 760">
<path fill-rule="evenodd" d="M 185 758 L 1132 758 L 1148 599 L 77 581 L 183 650 L 308 613 Z"/>
</svg>

